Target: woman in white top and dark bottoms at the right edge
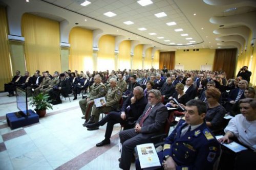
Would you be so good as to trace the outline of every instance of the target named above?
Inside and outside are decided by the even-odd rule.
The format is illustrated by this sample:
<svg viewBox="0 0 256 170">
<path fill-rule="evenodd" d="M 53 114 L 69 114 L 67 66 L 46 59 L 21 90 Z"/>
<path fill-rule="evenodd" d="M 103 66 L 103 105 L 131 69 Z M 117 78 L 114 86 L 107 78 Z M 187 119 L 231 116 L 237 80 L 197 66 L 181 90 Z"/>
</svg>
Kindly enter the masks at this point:
<svg viewBox="0 0 256 170">
<path fill-rule="evenodd" d="M 236 137 L 239 142 L 248 147 L 238 153 L 223 151 L 221 169 L 255 169 L 256 167 L 256 99 L 246 98 L 239 102 L 240 111 L 225 128 L 225 135 L 219 142 L 230 142 Z"/>
</svg>

